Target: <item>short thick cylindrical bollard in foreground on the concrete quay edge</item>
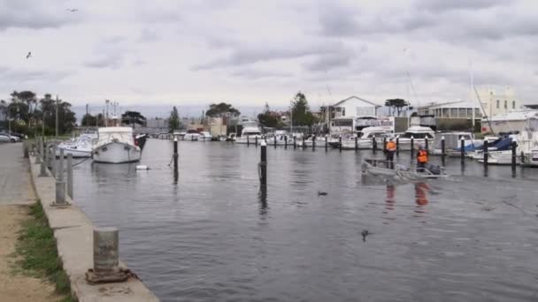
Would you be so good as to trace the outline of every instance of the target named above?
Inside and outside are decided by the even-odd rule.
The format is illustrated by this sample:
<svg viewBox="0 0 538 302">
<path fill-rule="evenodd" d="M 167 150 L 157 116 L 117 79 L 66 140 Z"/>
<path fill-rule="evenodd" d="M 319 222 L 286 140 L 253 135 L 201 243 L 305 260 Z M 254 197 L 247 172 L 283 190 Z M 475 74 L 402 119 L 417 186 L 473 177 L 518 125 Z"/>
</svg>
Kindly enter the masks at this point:
<svg viewBox="0 0 538 302">
<path fill-rule="evenodd" d="M 94 272 L 113 274 L 119 265 L 119 232 L 117 228 L 94 229 Z"/>
</svg>

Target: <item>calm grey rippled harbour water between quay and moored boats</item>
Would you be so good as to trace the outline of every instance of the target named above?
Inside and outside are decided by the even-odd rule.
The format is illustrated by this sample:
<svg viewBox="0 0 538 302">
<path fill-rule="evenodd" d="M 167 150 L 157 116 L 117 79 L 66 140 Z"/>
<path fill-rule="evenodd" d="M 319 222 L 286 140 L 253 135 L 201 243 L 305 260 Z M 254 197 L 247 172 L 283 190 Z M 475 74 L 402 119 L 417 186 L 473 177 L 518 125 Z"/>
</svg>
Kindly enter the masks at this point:
<svg viewBox="0 0 538 302">
<path fill-rule="evenodd" d="M 119 227 L 120 257 L 163 301 L 538 299 L 538 170 L 452 159 L 450 179 L 389 184 L 362 179 L 370 151 L 269 147 L 264 194 L 259 147 L 180 142 L 177 183 L 172 149 L 149 140 L 148 171 L 74 172 L 77 203 Z"/>
</svg>

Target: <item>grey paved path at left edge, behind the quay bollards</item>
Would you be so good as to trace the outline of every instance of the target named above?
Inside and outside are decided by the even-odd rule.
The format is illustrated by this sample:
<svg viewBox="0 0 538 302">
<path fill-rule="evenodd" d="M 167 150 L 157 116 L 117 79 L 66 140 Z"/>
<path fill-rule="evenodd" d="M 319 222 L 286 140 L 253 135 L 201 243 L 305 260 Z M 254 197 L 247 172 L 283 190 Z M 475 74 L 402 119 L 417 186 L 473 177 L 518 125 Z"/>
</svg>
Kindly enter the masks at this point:
<svg viewBox="0 0 538 302">
<path fill-rule="evenodd" d="M 22 143 L 0 144 L 0 206 L 35 202 L 28 169 L 22 154 Z"/>
</svg>

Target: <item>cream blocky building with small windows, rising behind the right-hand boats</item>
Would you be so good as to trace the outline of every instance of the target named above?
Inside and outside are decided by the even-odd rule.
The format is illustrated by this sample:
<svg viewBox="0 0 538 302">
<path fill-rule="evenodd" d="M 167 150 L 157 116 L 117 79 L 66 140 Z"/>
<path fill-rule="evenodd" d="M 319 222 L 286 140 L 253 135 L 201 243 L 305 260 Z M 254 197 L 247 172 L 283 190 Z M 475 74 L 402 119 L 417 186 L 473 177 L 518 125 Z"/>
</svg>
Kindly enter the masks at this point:
<svg viewBox="0 0 538 302">
<path fill-rule="evenodd" d="M 511 87 L 503 87 L 502 89 L 482 87 L 477 90 L 485 115 L 488 117 L 519 109 L 519 101 L 516 99 Z M 475 94 L 473 99 L 476 99 Z"/>
</svg>

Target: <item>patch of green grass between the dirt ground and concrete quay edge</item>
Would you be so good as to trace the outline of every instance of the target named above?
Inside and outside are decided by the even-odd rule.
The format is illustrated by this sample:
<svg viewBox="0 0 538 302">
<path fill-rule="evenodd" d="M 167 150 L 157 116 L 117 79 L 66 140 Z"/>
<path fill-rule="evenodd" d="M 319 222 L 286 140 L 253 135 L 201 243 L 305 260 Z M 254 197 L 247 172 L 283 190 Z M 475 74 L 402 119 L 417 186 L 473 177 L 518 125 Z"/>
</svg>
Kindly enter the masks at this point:
<svg viewBox="0 0 538 302">
<path fill-rule="evenodd" d="M 16 253 L 19 255 L 17 264 L 23 272 L 30 276 L 46 278 L 55 284 L 56 292 L 65 296 L 60 301 L 76 301 L 76 298 L 71 296 L 69 278 L 58 258 L 54 231 L 49 227 L 39 200 L 30 206 L 30 217 L 22 224 Z"/>
</svg>

